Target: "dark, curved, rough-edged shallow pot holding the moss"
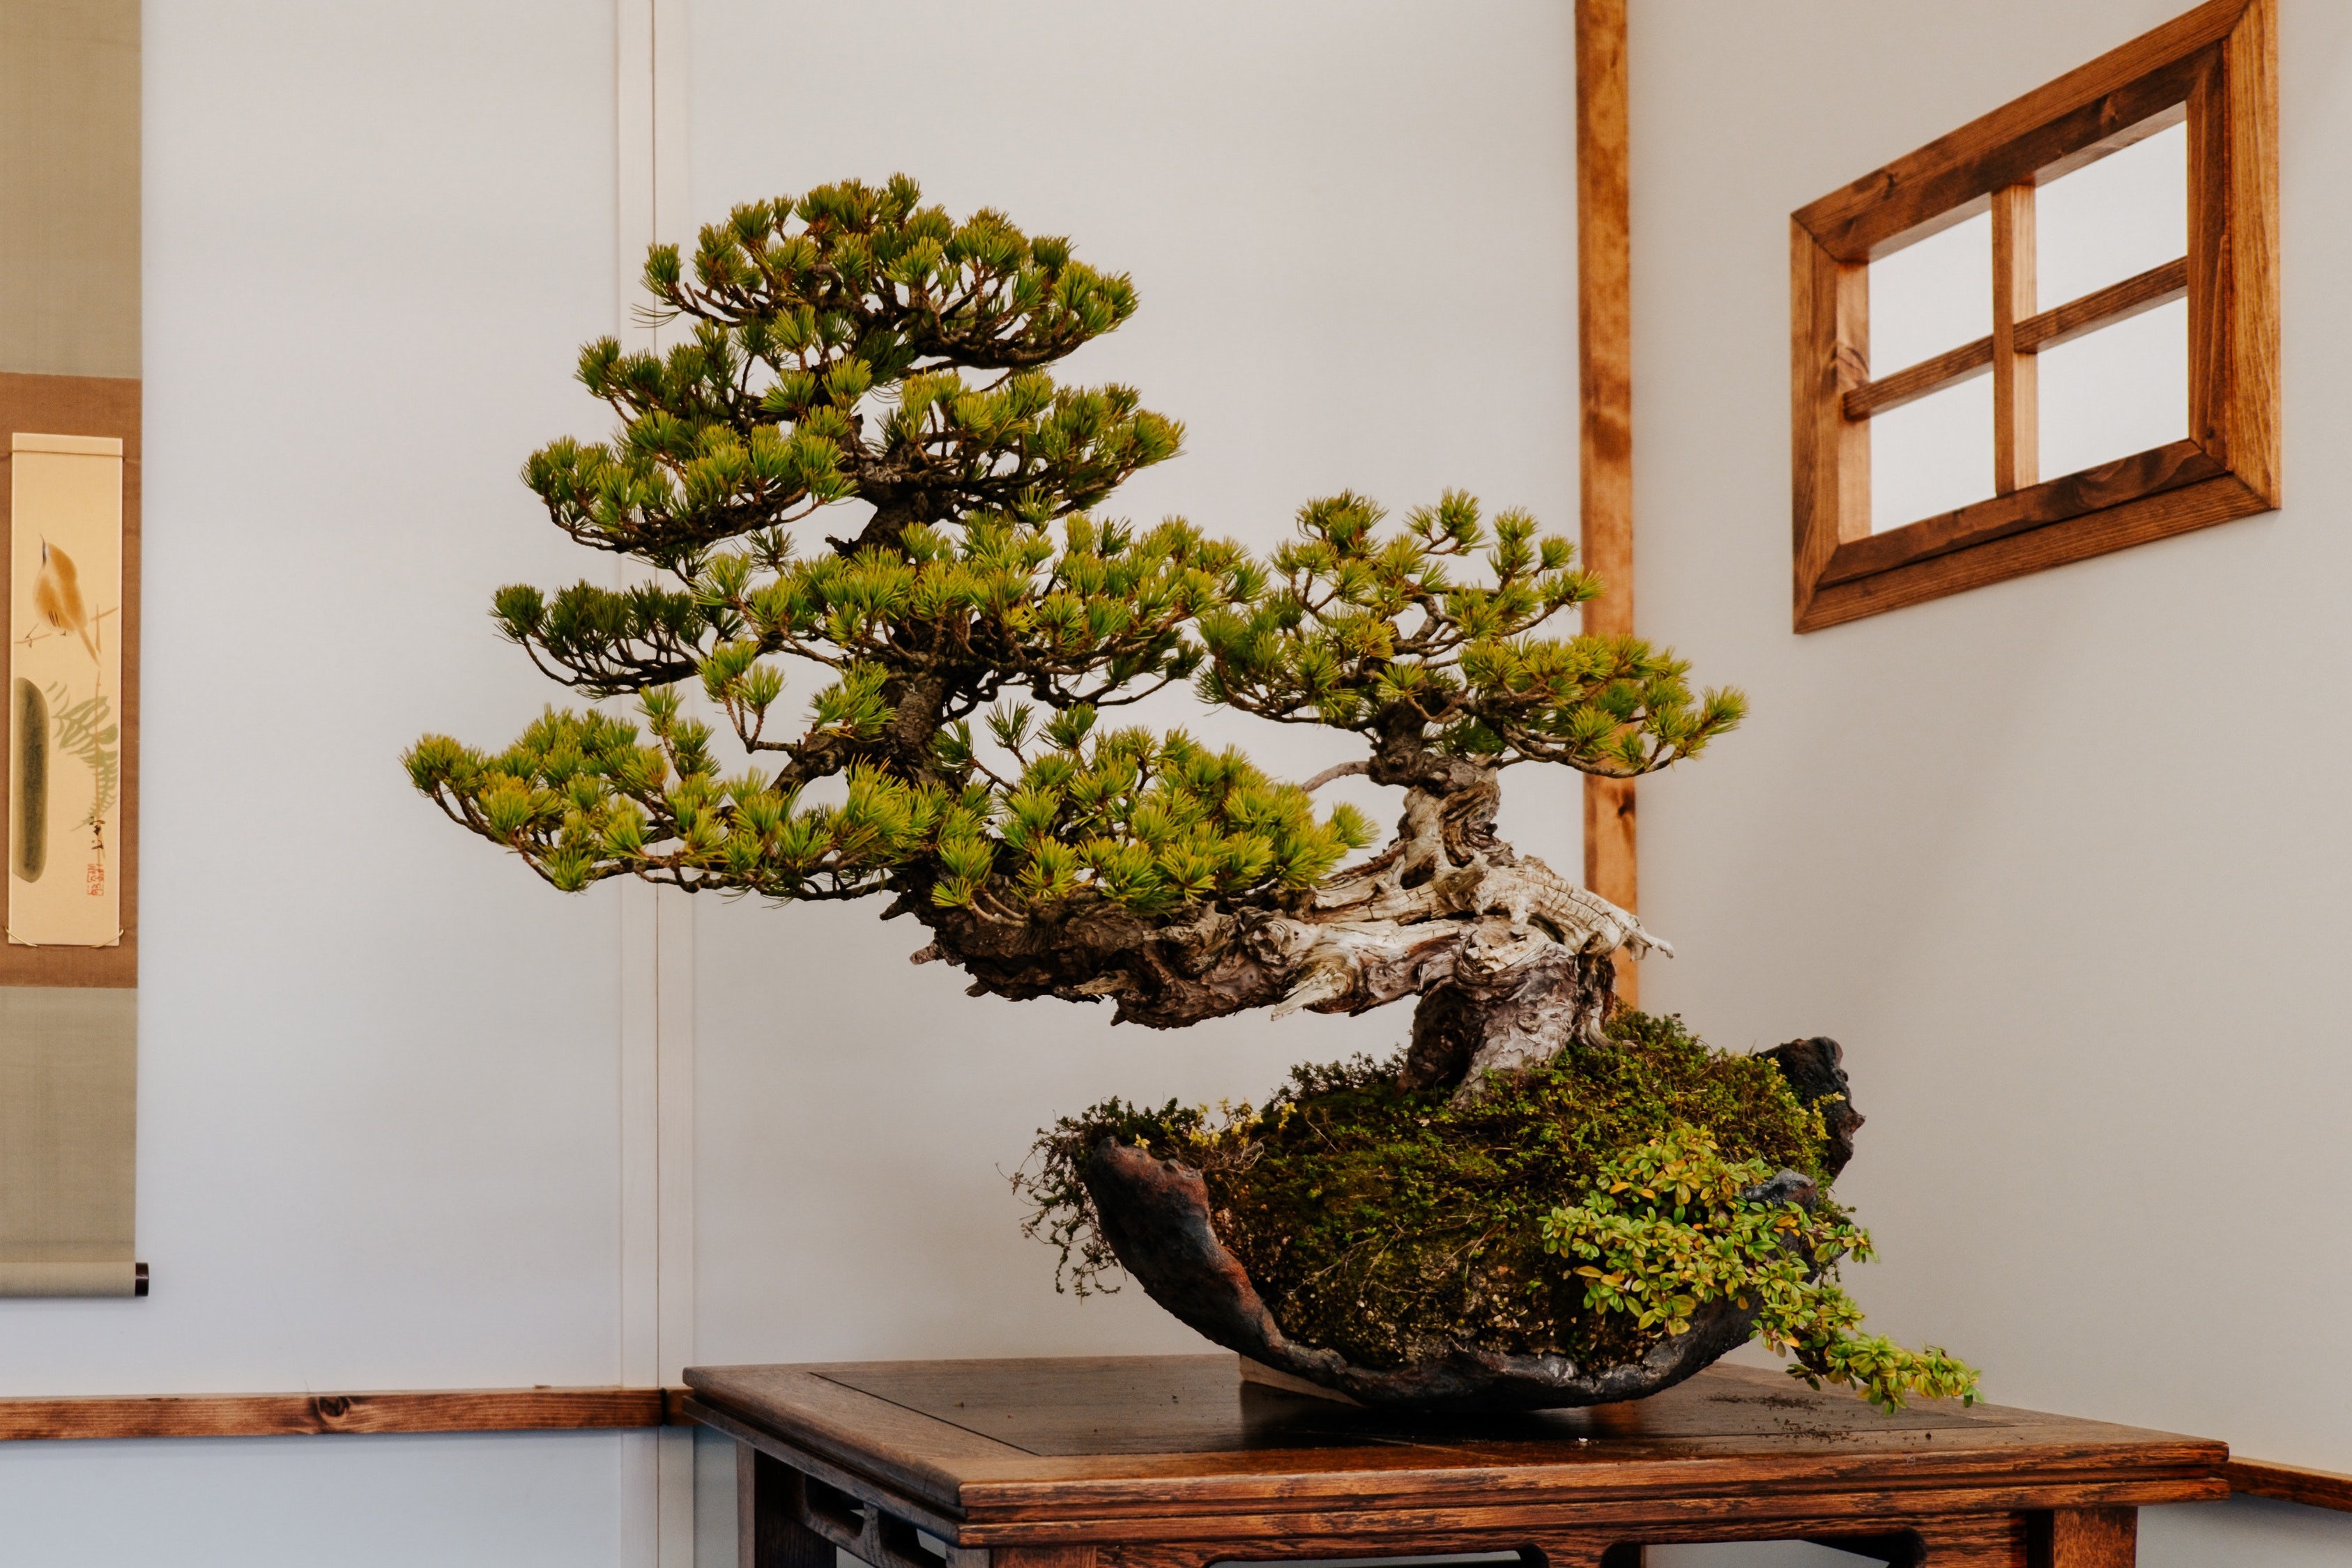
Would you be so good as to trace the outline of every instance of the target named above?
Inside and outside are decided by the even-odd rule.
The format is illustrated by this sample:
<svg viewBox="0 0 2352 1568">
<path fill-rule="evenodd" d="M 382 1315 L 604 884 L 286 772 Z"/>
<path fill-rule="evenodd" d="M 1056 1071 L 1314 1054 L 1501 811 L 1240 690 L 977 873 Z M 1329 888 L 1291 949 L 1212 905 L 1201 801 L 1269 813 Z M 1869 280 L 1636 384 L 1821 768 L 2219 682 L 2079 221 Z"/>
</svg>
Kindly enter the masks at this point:
<svg viewBox="0 0 2352 1568">
<path fill-rule="evenodd" d="M 1828 1173 L 1837 1175 L 1853 1154 L 1853 1128 L 1863 1124 L 1851 1107 L 1837 1041 L 1790 1041 L 1764 1056 L 1780 1063 L 1802 1103 L 1837 1095 L 1828 1117 L 1832 1135 Z M 1216 1227 L 1209 1222 L 1209 1187 L 1200 1171 L 1105 1138 L 1094 1147 L 1084 1180 L 1094 1194 L 1103 1239 L 1145 1295 L 1225 1349 L 1369 1406 L 1550 1410 L 1642 1399 L 1675 1387 L 1755 1335 L 1755 1309 L 1712 1302 L 1698 1309 L 1689 1333 L 1661 1340 L 1646 1356 L 1623 1366 L 1581 1366 L 1566 1356 L 1510 1356 L 1475 1345 L 1454 1347 L 1418 1366 L 1388 1371 L 1352 1366 L 1336 1349 L 1301 1345 L 1282 1333 L 1242 1260 L 1216 1239 Z M 1816 1187 L 1797 1171 L 1780 1171 L 1752 1197 L 1811 1204 Z"/>
</svg>

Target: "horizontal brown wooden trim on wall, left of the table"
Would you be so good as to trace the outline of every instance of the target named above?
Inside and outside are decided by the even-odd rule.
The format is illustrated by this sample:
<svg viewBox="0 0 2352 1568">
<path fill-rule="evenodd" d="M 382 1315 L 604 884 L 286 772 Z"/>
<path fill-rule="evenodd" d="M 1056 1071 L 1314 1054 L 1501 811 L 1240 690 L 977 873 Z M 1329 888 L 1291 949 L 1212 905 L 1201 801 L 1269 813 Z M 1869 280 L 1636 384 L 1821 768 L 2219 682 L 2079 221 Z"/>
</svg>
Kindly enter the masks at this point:
<svg viewBox="0 0 2352 1568">
<path fill-rule="evenodd" d="M 325 1436 L 383 1432 L 609 1432 L 684 1425 L 684 1389 L 445 1389 L 381 1394 L 132 1394 L 0 1399 L 0 1441 Z"/>
</svg>

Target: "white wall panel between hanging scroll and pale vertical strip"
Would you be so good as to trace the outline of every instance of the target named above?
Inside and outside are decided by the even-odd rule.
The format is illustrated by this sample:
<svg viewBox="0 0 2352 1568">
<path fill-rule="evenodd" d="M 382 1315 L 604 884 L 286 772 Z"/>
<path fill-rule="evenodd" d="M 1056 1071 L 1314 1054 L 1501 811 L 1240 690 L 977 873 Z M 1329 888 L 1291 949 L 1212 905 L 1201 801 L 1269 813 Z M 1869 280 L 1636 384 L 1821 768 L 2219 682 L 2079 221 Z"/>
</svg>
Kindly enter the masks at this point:
<svg viewBox="0 0 2352 1568">
<path fill-rule="evenodd" d="M 614 324 L 609 0 L 146 12 L 139 1302 L 0 1392 L 614 1382 L 612 898 L 409 790 L 543 682 L 515 468 Z M 614 1561 L 623 1439 L 5 1443 L 9 1563 Z"/>
</svg>

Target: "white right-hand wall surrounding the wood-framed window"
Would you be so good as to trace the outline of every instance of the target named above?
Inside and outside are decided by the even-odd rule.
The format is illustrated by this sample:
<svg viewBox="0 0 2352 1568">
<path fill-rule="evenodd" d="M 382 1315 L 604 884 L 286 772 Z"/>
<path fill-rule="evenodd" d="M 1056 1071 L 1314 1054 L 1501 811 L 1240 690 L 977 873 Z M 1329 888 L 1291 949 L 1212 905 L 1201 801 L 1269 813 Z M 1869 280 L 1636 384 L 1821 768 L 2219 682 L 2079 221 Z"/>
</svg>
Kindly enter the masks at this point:
<svg viewBox="0 0 2352 1568">
<path fill-rule="evenodd" d="M 2176 9 L 1635 5 L 1642 630 L 1755 698 L 1644 785 L 1682 950 L 1644 994 L 1846 1044 L 1877 1328 L 1997 1401 L 2352 1469 L 2352 12 L 2281 7 L 2288 505 L 1788 625 L 1790 209 Z M 2347 1563 L 2352 1521 L 2161 1509 L 2143 1561 Z"/>
</svg>

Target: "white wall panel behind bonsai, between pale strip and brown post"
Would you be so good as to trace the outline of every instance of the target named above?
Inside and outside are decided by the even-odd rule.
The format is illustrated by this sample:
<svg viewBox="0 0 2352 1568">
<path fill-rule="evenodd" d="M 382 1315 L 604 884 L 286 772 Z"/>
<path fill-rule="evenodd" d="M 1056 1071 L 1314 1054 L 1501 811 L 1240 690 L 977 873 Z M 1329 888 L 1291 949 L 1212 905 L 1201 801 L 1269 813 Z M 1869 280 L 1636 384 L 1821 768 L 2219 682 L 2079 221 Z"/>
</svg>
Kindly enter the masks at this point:
<svg viewBox="0 0 2352 1568">
<path fill-rule="evenodd" d="M 1573 534 L 1566 7 L 706 0 L 691 49 L 699 219 L 908 169 L 1134 275 L 1136 317 L 1065 374 L 1138 386 L 1188 454 L 1108 512 L 1270 545 L 1310 496 L 1402 512 L 1461 484 Z M 1190 698 L 1150 719 L 1291 776 L 1355 755 Z M 1576 780 L 1512 788 L 1505 825 L 1573 867 Z M 1399 797 L 1355 799 L 1385 823 Z M 1200 1347 L 1141 1291 L 1054 1295 L 1000 1171 L 1105 1095 L 1258 1098 L 1406 1030 L 1404 1009 L 1110 1030 L 1108 1006 L 967 999 L 906 964 L 922 943 L 873 905 L 696 912 L 696 1359 Z"/>
</svg>

